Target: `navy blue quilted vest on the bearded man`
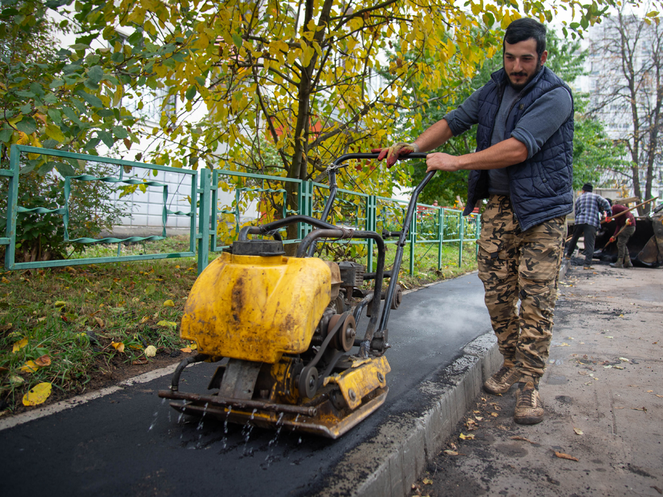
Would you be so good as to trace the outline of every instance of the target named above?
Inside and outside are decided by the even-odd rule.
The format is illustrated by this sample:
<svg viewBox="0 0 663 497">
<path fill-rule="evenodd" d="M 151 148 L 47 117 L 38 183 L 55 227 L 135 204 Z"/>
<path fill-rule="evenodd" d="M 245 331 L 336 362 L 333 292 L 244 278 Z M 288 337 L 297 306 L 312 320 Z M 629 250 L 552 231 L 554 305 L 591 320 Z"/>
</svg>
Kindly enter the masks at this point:
<svg viewBox="0 0 663 497">
<path fill-rule="evenodd" d="M 479 97 L 477 151 L 490 146 L 495 116 L 508 84 L 503 69 L 494 72 Z M 511 132 L 530 105 L 555 88 L 571 90 L 557 75 L 544 66 L 518 95 L 508 115 L 503 139 Z M 573 102 L 573 95 L 571 95 Z M 570 116 L 548 139 L 541 150 L 520 164 L 506 168 L 509 175 L 511 203 L 522 231 L 544 221 L 573 211 L 573 105 Z M 468 182 L 468 204 L 463 215 L 474 209 L 479 199 L 488 197 L 488 171 L 472 170 Z"/>
</svg>

